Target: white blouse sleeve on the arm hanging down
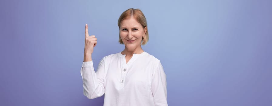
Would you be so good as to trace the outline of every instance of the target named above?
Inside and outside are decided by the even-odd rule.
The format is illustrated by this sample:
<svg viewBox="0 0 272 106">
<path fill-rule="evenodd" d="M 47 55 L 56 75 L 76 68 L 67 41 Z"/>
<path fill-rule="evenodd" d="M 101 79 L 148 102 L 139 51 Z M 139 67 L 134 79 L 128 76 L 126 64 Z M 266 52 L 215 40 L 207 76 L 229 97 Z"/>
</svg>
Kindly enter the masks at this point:
<svg viewBox="0 0 272 106">
<path fill-rule="evenodd" d="M 160 62 L 152 74 L 151 91 L 155 106 L 168 106 L 166 74 Z"/>
</svg>

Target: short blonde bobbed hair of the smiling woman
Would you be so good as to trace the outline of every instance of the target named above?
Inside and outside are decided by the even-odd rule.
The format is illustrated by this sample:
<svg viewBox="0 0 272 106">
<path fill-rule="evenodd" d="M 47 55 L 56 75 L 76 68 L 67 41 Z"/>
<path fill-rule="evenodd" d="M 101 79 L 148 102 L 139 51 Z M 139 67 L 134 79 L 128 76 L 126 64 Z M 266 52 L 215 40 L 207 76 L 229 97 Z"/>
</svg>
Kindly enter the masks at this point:
<svg viewBox="0 0 272 106">
<path fill-rule="evenodd" d="M 137 22 L 139 22 L 143 28 L 146 27 L 146 33 L 145 36 L 142 38 L 142 45 L 145 45 L 148 41 L 148 30 L 147 30 L 147 23 L 146 23 L 146 17 L 143 15 L 143 12 L 140 9 L 134 9 L 134 8 L 129 8 L 125 12 L 123 12 L 119 19 L 118 19 L 118 26 L 119 26 L 119 43 L 123 44 L 123 41 L 120 36 L 120 24 L 124 19 L 127 18 L 135 18 Z"/>
</svg>

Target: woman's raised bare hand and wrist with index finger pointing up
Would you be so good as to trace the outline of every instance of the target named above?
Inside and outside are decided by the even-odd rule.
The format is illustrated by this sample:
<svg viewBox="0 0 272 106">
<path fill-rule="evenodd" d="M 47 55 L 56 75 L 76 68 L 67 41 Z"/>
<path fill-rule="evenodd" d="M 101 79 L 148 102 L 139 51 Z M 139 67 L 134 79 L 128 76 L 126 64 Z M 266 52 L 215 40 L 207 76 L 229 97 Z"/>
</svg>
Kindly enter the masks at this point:
<svg viewBox="0 0 272 106">
<path fill-rule="evenodd" d="M 97 44 L 97 38 L 94 35 L 89 36 L 88 25 L 85 25 L 85 48 L 84 61 L 92 61 L 93 48 Z"/>
</svg>

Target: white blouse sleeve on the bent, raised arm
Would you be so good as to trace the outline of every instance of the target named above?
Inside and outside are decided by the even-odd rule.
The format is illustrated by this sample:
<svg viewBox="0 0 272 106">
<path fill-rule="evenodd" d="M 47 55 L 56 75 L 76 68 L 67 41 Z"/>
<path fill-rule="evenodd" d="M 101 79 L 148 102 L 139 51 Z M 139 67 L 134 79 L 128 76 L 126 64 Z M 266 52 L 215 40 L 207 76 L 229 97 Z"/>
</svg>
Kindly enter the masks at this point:
<svg viewBox="0 0 272 106">
<path fill-rule="evenodd" d="M 104 88 L 105 57 L 100 61 L 97 71 L 94 71 L 93 62 L 83 62 L 80 73 L 83 80 L 83 94 L 89 98 L 101 97 Z"/>
</svg>

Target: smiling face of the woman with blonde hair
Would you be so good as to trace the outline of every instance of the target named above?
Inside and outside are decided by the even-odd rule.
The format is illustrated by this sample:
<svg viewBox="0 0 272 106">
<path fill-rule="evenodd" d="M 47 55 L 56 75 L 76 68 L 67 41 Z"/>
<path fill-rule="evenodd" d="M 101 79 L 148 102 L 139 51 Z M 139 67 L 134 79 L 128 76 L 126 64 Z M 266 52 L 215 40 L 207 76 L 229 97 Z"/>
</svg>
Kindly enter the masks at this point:
<svg viewBox="0 0 272 106">
<path fill-rule="evenodd" d="M 124 19 L 120 23 L 120 37 L 129 51 L 133 51 L 141 46 L 146 29 L 134 18 Z"/>
</svg>

